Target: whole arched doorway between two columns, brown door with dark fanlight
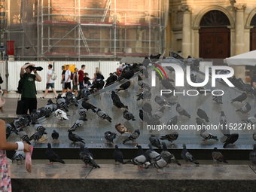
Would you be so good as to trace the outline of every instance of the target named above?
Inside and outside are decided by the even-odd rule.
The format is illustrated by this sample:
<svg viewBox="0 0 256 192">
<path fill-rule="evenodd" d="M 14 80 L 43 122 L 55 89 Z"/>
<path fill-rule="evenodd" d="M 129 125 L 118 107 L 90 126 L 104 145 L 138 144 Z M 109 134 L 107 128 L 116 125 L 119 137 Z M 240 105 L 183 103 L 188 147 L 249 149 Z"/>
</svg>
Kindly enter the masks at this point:
<svg viewBox="0 0 256 192">
<path fill-rule="evenodd" d="M 230 57 L 230 21 L 217 10 L 207 12 L 200 21 L 200 57 L 224 59 Z M 218 65 L 214 62 L 213 65 Z"/>
</svg>

